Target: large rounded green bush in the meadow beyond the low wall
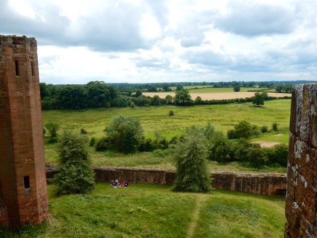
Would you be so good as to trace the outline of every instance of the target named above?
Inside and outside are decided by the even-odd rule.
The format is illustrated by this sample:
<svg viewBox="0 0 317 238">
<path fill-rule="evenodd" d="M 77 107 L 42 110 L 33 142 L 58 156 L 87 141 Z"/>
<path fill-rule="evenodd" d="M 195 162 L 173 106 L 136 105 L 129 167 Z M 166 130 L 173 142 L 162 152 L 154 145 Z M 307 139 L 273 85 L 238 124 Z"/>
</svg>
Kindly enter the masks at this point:
<svg viewBox="0 0 317 238">
<path fill-rule="evenodd" d="M 135 152 L 142 142 L 143 128 L 139 119 L 120 114 L 111 120 L 105 130 L 109 147 L 119 152 Z"/>
</svg>

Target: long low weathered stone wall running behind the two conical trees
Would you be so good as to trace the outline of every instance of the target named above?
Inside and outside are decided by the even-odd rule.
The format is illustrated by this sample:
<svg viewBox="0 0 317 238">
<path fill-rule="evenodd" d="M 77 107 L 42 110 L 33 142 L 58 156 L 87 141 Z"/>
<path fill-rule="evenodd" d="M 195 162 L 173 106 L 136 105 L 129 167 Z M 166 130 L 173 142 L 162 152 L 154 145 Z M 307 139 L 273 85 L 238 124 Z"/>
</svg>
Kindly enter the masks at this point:
<svg viewBox="0 0 317 238">
<path fill-rule="evenodd" d="M 46 167 L 47 178 L 57 174 L 56 166 Z M 173 170 L 139 168 L 94 167 L 96 181 L 110 182 L 111 179 L 132 183 L 173 184 Z M 286 175 L 283 174 L 238 174 L 234 172 L 211 172 L 212 186 L 218 189 L 251 192 L 265 195 L 282 195 L 286 192 Z"/>
</svg>

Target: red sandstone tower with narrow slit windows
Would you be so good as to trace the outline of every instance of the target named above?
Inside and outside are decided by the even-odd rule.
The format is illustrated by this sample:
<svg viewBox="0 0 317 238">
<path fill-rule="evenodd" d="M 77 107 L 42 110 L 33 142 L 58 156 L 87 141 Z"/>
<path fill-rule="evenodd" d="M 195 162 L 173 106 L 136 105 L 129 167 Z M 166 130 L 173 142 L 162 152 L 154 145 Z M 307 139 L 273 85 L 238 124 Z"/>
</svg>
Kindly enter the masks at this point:
<svg viewBox="0 0 317 238">
<path fill-rule="evenodd" d="M 0 35 L 0 225 L 47 218 L 37 43 Z"/>
</svg>

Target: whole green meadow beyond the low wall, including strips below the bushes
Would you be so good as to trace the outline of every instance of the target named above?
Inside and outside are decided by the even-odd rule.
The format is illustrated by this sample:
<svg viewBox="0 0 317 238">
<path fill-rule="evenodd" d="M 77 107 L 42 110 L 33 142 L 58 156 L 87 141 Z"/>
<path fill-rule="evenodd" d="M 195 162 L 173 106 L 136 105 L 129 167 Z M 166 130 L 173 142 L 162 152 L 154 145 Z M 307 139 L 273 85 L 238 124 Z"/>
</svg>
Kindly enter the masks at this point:
<svg viewBox="0 0 317 238">
<path fill-rule="evenodd" d="M 170 110 L 174 116 L 168 116 Z M 273 122 L 278 123 L 278 132 L 264 133 L 263 137 L 253 138 L 253 141 L 274 141 L 287 143 L 290 117 L 290 100 L 281 99 L 267 101 L 264 107 L 254 107 L 251 103 L 227 104 L 227 105 L 206 105 L 206 106 L 158 106 L 158 107 L 136 107 L 136 108 L 106 108 L 89 109 L 81 111 L 52 110 L 43 111 L 43 124 L 53 121 L 60 126 L 59 133 L 64 129 L 71 129 L 80 132 L 84 128 L 88 137 L 101 138 L 105 136 L 103 131 L 109 121 L 116 115 L 134 117 L 140 119 L 146 137 L 154 138 L 155 132 L 159 132 L 167 139 L 180 135 L 186 127 L 206 126 L 210 122 L 216 130 L 226 132 L 232 129 L 241 120 L 247 120 L 258 126 L 266 125 L 271 128 Z M 276 135 L 278 134 L 278 136 Z M 56 164 L 55 145 L 45 143 L 46 162 Z M 124 155 L 114 152 L 95 152 L 91 150 L 94 165 L 114 167 L 142 167 L 156 169 L 173 169 L 170 163 L 170 156 L 167 151 L 155 151 L 154 153 L 144 152 L 131 155 Z M 285 173 L 285 168 L 265 168 L 255 170 L 244 168 L 237 163 L 223 166 L 216 162 L 209 162 L 209 169 L 214 171 L 235 171 L 235 172 L 280 172 Z"/>
</svg>

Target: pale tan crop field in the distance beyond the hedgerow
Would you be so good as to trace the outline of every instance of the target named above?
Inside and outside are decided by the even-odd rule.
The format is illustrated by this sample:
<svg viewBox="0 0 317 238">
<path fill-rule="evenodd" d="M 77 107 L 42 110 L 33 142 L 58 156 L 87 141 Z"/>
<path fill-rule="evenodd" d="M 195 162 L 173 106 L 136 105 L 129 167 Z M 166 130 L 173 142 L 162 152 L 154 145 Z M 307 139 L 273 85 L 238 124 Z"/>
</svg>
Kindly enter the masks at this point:
<svg viewBox="0 0 317 238">
<path fill-rule="evenodd" d="M 253 92 L 232 92 L 232 93 L 191 93 L 192 99 L 195 100 L 198 96 L 200 96 L 203 100 L 221 100 L 221 99 L 235 99 L 235 98 L 251 98 L 254 96 L 255 93 Z M 284 97 L 284 96 L 291 96 L 288 93 L 267 93 L 270 97 Z M 160 98 L 165 98 L 166 95 L 171 95 L 172 97 L 175 96 L 175 93 L 143 93 L 145 96 L 158 95 Z"/>
</svg>

